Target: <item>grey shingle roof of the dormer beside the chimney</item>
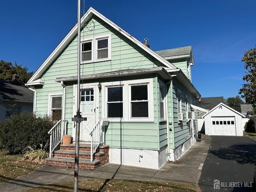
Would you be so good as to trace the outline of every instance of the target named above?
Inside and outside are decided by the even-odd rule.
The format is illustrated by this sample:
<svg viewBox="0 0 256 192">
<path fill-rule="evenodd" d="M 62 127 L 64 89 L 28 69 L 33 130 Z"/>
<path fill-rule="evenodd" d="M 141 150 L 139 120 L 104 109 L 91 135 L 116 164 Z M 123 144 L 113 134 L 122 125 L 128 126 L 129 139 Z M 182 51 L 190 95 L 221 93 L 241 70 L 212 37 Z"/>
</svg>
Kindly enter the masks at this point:
<svg viewBox="0 0 256 192">
<path fill-rule="evenodd" d="M 179 55 L 188 55 L 190 54 L 191 49 L 192 49 L 192 46 L 186 46 L 186 47 L 156 51 L 156 53 L 161 57 L 165 58 L 165 57 L 172 57 L 172 56 L 179 56 Z"/>
</svg>

